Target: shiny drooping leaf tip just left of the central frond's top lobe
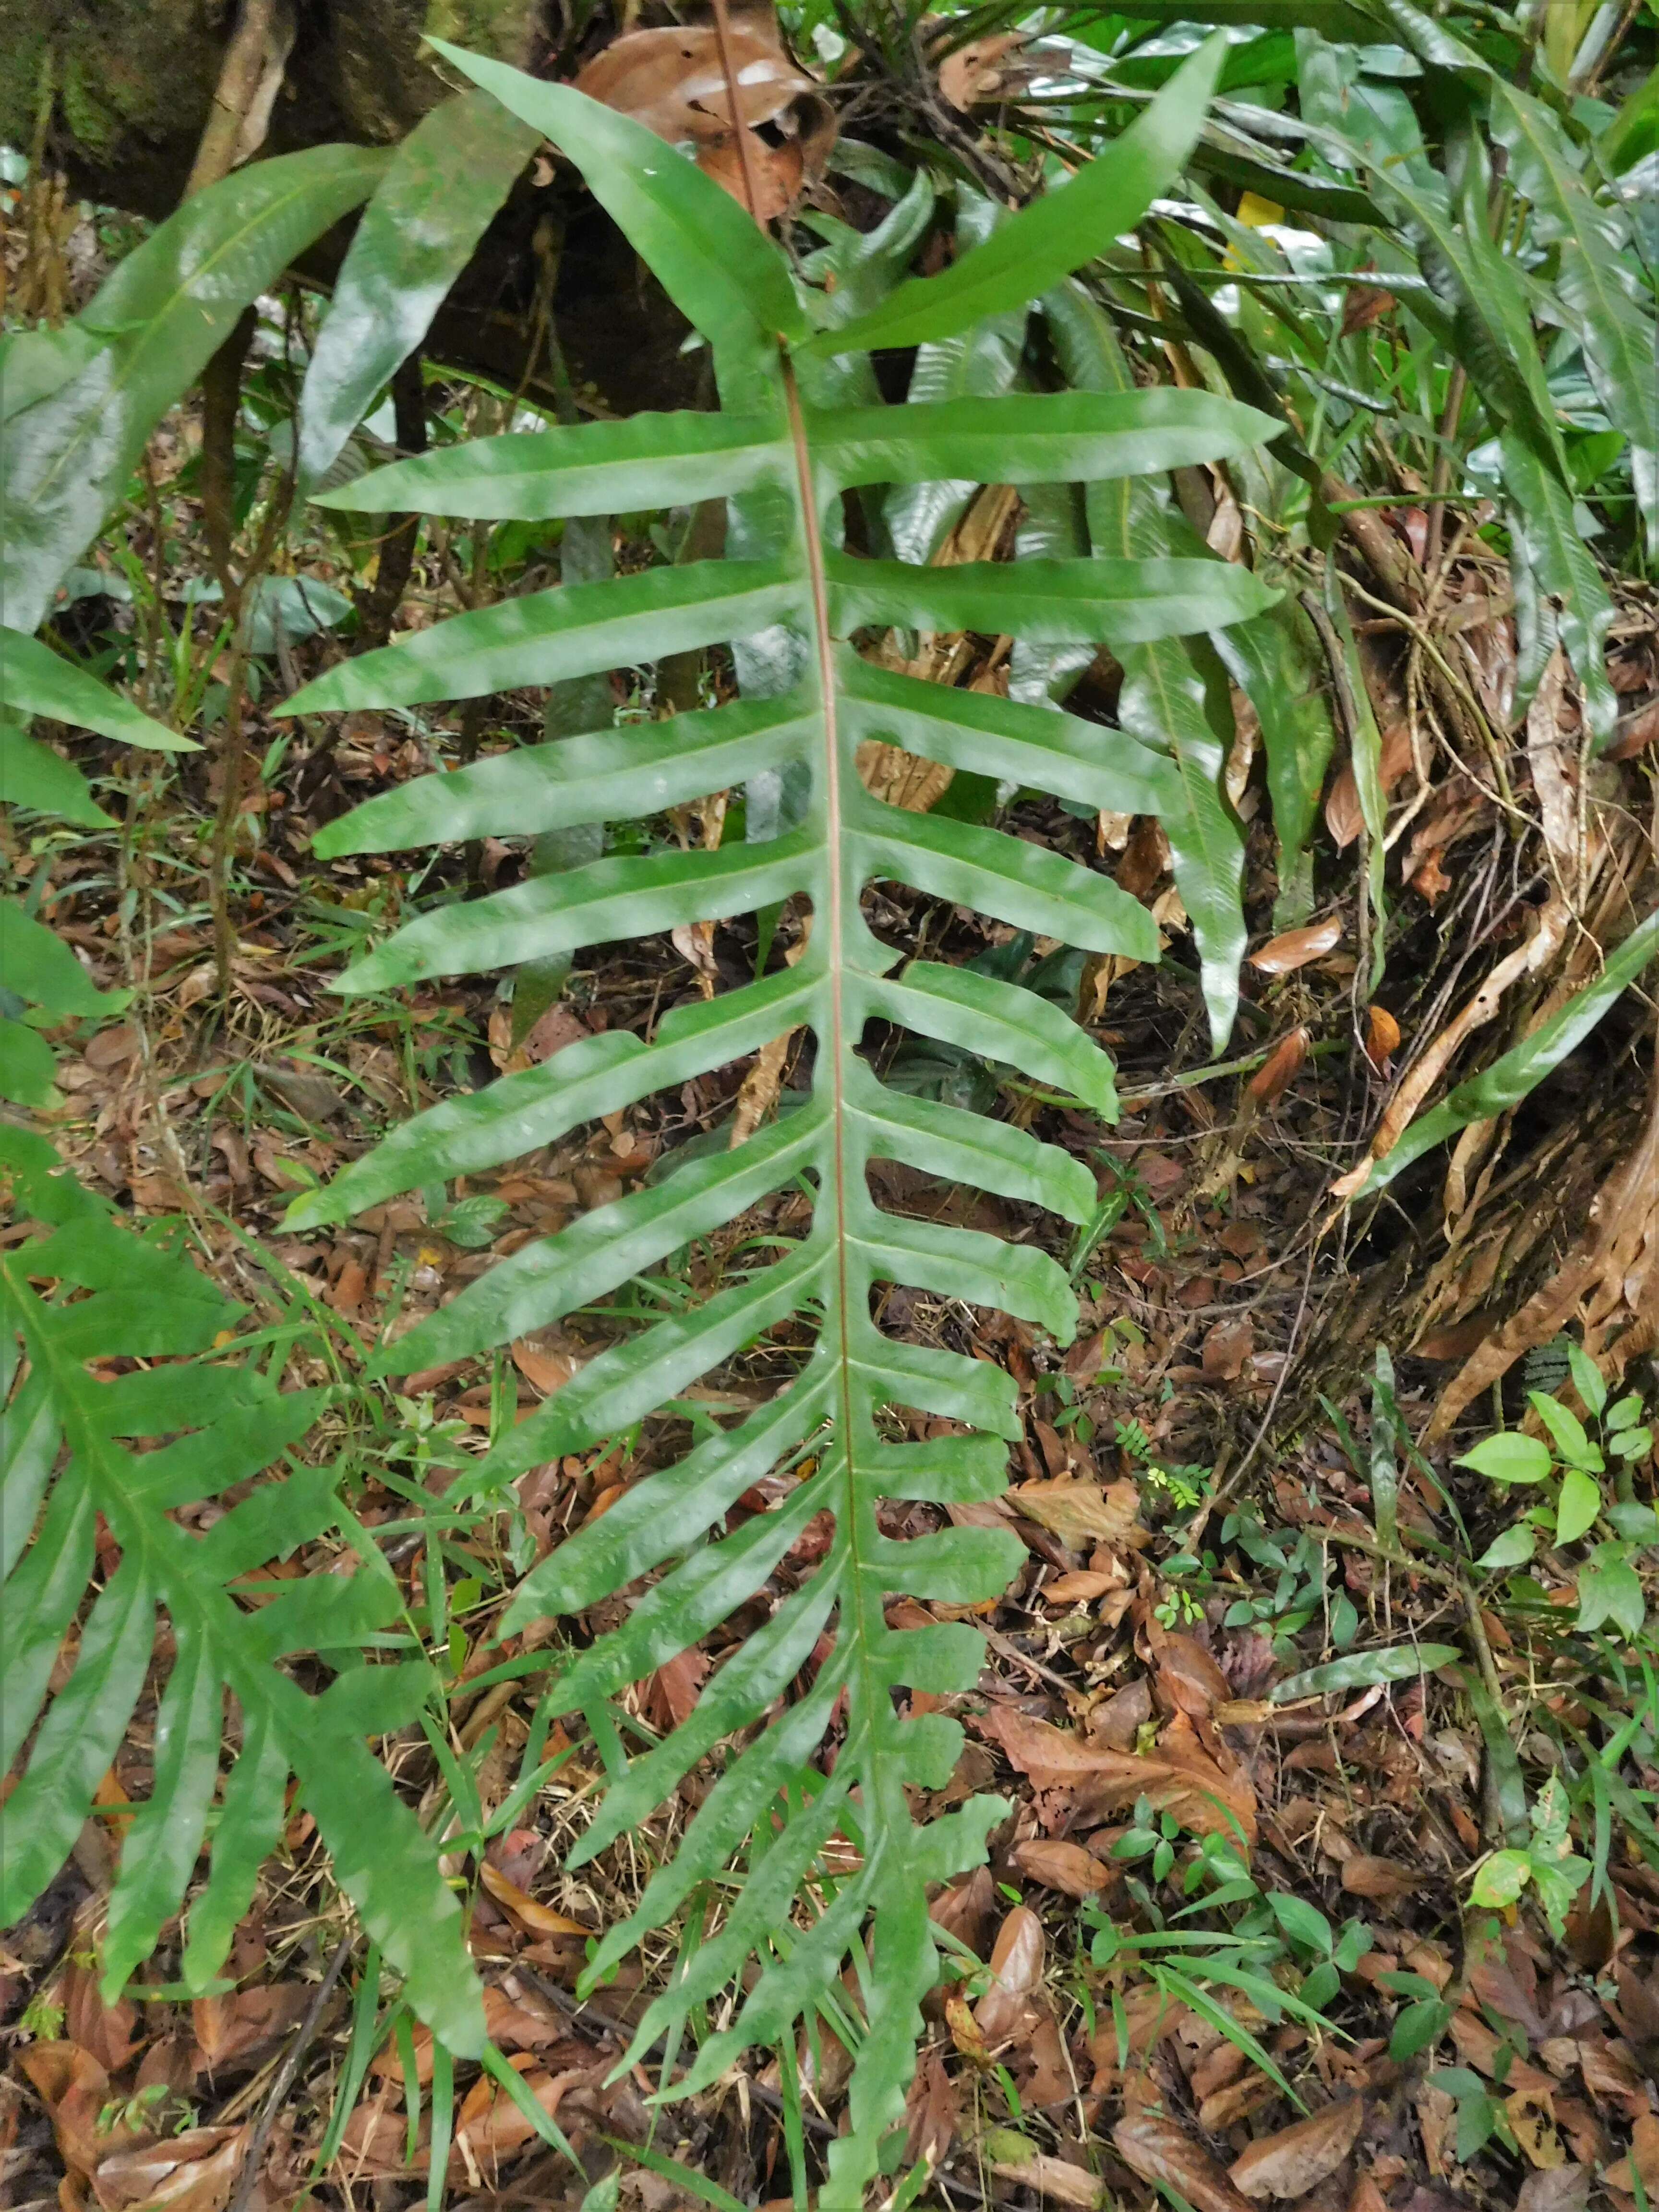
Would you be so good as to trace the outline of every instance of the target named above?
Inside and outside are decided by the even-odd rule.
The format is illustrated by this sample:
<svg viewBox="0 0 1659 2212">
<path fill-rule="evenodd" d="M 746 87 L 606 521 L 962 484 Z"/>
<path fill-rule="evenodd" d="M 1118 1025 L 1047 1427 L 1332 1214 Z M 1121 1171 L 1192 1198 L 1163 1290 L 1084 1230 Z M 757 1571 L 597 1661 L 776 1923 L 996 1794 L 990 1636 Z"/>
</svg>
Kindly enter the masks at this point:
<svg viewBox="0 0 1659 2212">
<path fill-rule="evenodd" d="M 489 93 L 422 115 L 363 210 L 299 396 L 299 487 L 327 473 L 374 394 L 420 345 L 538 133 Z M 460 509 L 456 509 L 460 511 Z"/>
</svg>

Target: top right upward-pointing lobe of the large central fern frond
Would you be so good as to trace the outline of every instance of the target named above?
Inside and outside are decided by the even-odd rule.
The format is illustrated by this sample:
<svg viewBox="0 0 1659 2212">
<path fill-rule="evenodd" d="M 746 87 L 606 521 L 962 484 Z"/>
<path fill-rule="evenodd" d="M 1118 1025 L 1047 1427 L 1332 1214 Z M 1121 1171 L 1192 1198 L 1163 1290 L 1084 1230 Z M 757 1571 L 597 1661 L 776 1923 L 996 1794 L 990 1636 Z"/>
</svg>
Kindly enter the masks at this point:
<svg viewBox="0 0 1659 2212">
<path fill-rule="evenodd" d="M 1181 64 L 1144 115 L 1071 184 L 1022 208 L 942 276 L 911 276 L 872 314 L 810 338 L 803 352 L 867 352 L 949 338 L 982 316 L 1022 307 L 1133 230 L 1181 173 L 1210 104 L 1225 40 Z M 1068 197 L 1071 195 L 1071 197 Z"/>
</svg>

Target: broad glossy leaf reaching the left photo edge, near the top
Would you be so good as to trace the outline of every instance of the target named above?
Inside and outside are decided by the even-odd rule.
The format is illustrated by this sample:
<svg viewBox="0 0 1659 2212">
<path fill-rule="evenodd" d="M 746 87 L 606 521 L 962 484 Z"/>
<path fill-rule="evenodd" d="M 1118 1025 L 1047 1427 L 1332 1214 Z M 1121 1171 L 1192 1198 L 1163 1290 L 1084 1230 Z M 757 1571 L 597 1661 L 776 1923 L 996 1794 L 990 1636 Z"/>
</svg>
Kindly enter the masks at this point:
<svg viewBox="0 0 1659 2212">
<path fill-rule="evenodd" d="M 387 159 L 367 146 L 314 146 L 250 161 L 117 263 L 75 319 L 95 347 L 0 429 L 0 604 L 11 628 L 40 626 L 60 577 L 126 495 L 159 418 L 241 310 L 374 190 Z"/>
</svg>

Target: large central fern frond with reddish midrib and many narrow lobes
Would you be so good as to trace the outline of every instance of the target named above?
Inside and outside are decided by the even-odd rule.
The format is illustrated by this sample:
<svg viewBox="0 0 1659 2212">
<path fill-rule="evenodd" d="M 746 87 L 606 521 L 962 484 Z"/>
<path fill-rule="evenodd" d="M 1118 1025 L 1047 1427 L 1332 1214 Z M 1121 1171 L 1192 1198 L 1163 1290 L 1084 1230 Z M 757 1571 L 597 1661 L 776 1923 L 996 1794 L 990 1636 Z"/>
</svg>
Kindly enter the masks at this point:
<svg viewBox="0 0 1659 2212">
<path fill-rule="evenodd" d="M 394 1190 L 487 1168 L 726 1066 L 787 1029 L 812 1031 L 807 1104 L 737 1148 L 688 1161 L 657 1188 L 500 1261 L 407 1334 L 385 1365 L 407 1371 L 544 1327 L 770 1192 L 803 1179 L 814 1188 L 812 1228 L 799 1241 L 701 1307 L 597 1356 L 491 1449 L 482 1475 L 509 1478 L 591 1447 L 661 1409 L 776 1323 L 816 1318 L 816 1347 L 787 1389 L 637 1484 L 557 1548 L 520 1586 L 507 1626 L 573 1615 L 648 1579 L 628 1619 L 571 1657 L 549 1692 L 553 1712 L 588 1714 L 611 1759 L 611 1790 L 580 1858 L 644 1820 L 697 1759 L 787 1699 L 818 1657 L 812 1688 L 730 1761 L 679 1854 L 626 1924 L 606 1936 L 591 1973 L 602 1975 L 745 1851 L 741 1889 L 648 2008 L 635 2048 L 679 2026 L 759 1953 L 763 1971 L 730 2028 L 703 2042 L 679 2084 L 688 2095 L 719 2077 L 743 2046 L 787 2037 L 852 1951 L 865 2022 L 849 2090 L 852 2132 L 830 2150 L 823 2203 L 854 2205 L 876 2170 L 880 2137 L 902 2110 L 920 1997 L 936 1975 L 927 1885 L 978 1863 L 1002 1812 L 1000 1801 L 973 1798 L 927 1827 L 911 1820 L 907 1787 L 945 1783 L 960 1730 L 940 1714 L 900 1717 L 896 1692 L 969 1688 L 984 1646 L 964 1624 L 891 1630 L 885 1608 L 898 1593 L 949 1606 L 995 1597 L 1020 1559 L 1013 1537 L 978 1526 L 947 1526 L 914 1542 L 883 1533 L 883 1500 L 949 1506 L 1002 1491 L 1006 1440 L 1020 1427 L 1013 1385 L 998 1367 L 885 1336 L 872 1318 L 872 1290 L 902 1283 L 1002 1307 L 1062 1343 L 1075 1327 L 1066 1276 L 1046 1254 L 883 1212 L 865 1170 L 872 1159 L 905 1159 L 942 1181 L 1033 1201 L 1073 1221 L 1093 1203 L 1082 1164 L 1024 1130 L 898 1097 L 858 1046 L 872 1022 L 898 1024 L 1020 1066 L 1102 1117 L 1115 1115 L 1110 1062 L 1062 1011 L 936 962 L 900 969 L 865 925 L 860 894 L 876 878 L 896 878 L 1018 929 L 1099 953 L 1157 958 L 1150 916 L 1106 876 L 995 830 L 887 807 L 860 785 L 854 754 L 860 741 L 883 739 L 1091 807 L 1146 812 L 1183 801 L 1175 763 L 1155 745 L 1060 710 L 874 668 L 849 637 L 872 624 L 905 624 L 1104 639 L 1128 650 L 1248 617 L 1267 593 L 1250 573 L 1214 560 L 958 568 L 854 560 L 836 549 L 830 524 L 849 487 L 1124 478 L 1234 453 L 1270 425 L 1199 392 L 814 405 L 814 392 L 847 392 L 845 378 L 814 380 L 814 372 L 825 356 L 865 345 L 865 323 L 894 323 L 902 330 L 898 343 L 949 336 L 982 312 L 1024 303 L 1095 254 L 1177 173 L 1217 58 L 1188 64 L 1115 150 L 1115 168 L 1108 155 L 1064 195 L 995 230 L 947 276 L 902 285 L 869 319 L 814 338 L 783 257 L 659 139 L 564 86 L 445 51 L 580 164 L 714 343 L 726 411 L 480 440 L 378 471 L 332 500 L 465 515 L 584 515 L 728 495 L 743 557 L 571 584 L 458 615 L 332 670 L 292 699 L 290 712 L 476 697 L 726 639 L 741 646 L 768 630 L 783 633 L 785 650 L 754 655 L 761 681 L 768 670 L 796 672 L 772 697 L 750 695 L 650 730 L 562 739 L 429 776 L 358 807 L 319 838 L 319 849 L 365 852 L 487 832 L 531 836 L 657 812 L 779 772 L 807 799 L 763 843 L 602 858 L 434 909 L 354 967 L 341 989 L 513 967 L 748 914 L 792 894 L 812 900 L 814 920 L 794 969 L 677 1009 L 650 1044 L 608 1033 L 482 1093 L 447 1099 L 394 1130 L 327 1192 L 301 1199 L 290 1219 L 345 1219 Z M 1057 230 L 1055 210 L 1073 195 L 1075 221 Z M 1026 223 L 1033 228 L 1022 243 Z M 799 650 L 787 648 L 790 637 Z M 891 1444 L 883 1440 L 885 1409 L 951 1416 L 975 1433 Z M 706 1542 L 743 1491 L 779 1464 L 799 1473 L 785 1502 Z M 608 1699 L 745 1604 L 825 1509 L 834 1542 L 816 1573 L 708 1681 L 695 1714 L 628 1763 Z M 825 1732 L 838 1714 L 845 1734 L 827 1761 Z M 845 1840 L 825 1863 L 834 1836 Z M 796 1918 L 803 1893 L 821 1907 L 810 1922 Z"/>
</svg>

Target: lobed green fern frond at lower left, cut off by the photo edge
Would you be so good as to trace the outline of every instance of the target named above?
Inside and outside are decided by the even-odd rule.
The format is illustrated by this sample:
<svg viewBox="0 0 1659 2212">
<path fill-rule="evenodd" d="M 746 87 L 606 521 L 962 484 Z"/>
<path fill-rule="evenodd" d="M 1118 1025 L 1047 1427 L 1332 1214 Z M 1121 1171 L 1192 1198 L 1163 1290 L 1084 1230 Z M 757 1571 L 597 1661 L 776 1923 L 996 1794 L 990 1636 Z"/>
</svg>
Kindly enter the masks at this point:
<svg viewBox="0 0 1659 2212">
<path fill-rule="evenodd" d="M 341 1887 L 409 1978 L 411 2004 L 476 2055 L 484 2020 L 460 1907 L 363 1743 L 365 1730 L 411 1719 L 422 1670 L 358 1668 L 307 1697 L 279 1666 L 288 1652 L 349 1648 L 385 1628 L 400 1608 L 389 1568 L 365 1542 L 352 1577 L 283 1582 L 252 1613 L 237 1601 L 239 1577 L 341 1522 L 323 1467 L 254 1486 L 206 1535 L 173 1517 L 261 1473 L 305 1433 L 327 1391 L 283 1394 L 254 1365 L 192 1358 L 239 1307 L 188 1259 L 119 1228 L 42 1137 L 0 1126 L 0 1172 L 15 1217 L 49 1232 L 0 1252 L 0 1772 L 29 1745 L 0 1809 L 0 1924 L 13 1927 L 69 1856 L 144 1690 L 164 1608 L 175 1657 L 155 1717 L 155 1783 L 131 1818 L 108 1900 L 104 1986 L 115 1993 L 177 1916 L 210 1825 L 184 1980 L 212 1982 L 281 1836 L 294 1774 Z M 157 1365 L 113 1380 L 88 1371 L 88 1360 L 108 1358 Z M 119 1564 L 46 1703 L 95 1579 L 100 1515 Z M 226 1690 L 241 1710 L 241 1750 L 215 1809 Z"/>
</svg>

